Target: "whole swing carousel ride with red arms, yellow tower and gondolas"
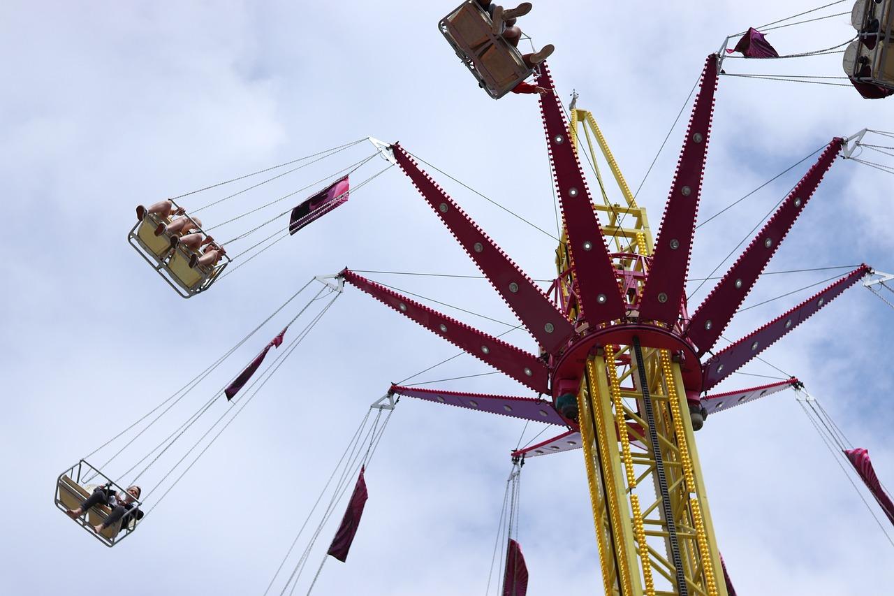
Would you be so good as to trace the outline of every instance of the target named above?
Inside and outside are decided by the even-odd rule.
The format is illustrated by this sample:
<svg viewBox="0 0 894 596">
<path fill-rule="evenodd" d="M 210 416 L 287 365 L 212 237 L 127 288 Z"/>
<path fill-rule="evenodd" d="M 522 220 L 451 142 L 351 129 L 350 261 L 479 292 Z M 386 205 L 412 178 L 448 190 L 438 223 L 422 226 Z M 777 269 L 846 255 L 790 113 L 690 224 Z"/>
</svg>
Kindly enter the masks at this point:
<svg viewBox="0 0 894 596">
<path fill-rule="evenodd" d="M 566 111 L 547 64 L 544 61 L 532 62 L 530 55 L 519 51 L 517 40 L 513 41 L 506 34 L 506 26 L 499 17 L 494 17 L 493 5 L 488 7 L 488 4 L 477 0 L 464 2 L 444 17 L 438 28 L 460 61 L 473 74 L 479 87 L 491 98 L 502 98 L 510 91 L 539 94 L 545 143 L 562 222 L 561 238 L 554 255 L 556 275 L 545 291 L 502 251 L 458 202 L 444 192 L 420 166 L 419 158 L 401 143 L 389 144 L 375 139 L 368 139 L 374 146 L 372 155 L 300 189 L 298 192 L 311 187 L 319 189 L 321 184 L 324 185 L 297 207 L 266 218 L 257 226 L 249 226 L 246 231 L 236 234 L 232 241 L 217 243 L 209 235 L 216 226 L 203 227 L 196 213 L 311 163 L 358 147 L 365 140 L 214 184 L 175 197 L 161 207 L 143 209 L 128 240 L 168 285 L 181 296 L 190 298 L 207 291 L 216 280 L 232 273 L 231 270 L 224 274 L 225 269 L 236 269 L 272 248 L 344 204 L 349 199 L 349 193 L 357 192 L 385 170 L 397 166 L 409 177 L 435 216 L 519 319 L 521 327 L 536 344 L 535 349 L 526 351 L 511 345 L 501 336 L 490 335 L 436 311 L 350 268 L 333 276 L 316 277 L 180 391 L 60 475 L 56 505 L 70 515 L 85 499 L 95 494 L 94 490 L 105 491 L 105 500 L 89 508 L 83 515 L 72 515 L 97 539 L 107 546 L 114 546 L 141 524 L 140 520 L 145 517 L 142 507 L 149 496 L 163 486 L 173 473 L 179 472 L 180 475 L 173 483 L 169 482 L 161 497 L 156 499 L 155 505 L 173 489 L 173 485 L 207 451 L 285 358 L 308 336 L 316 322 L 342 294 L 344 285 L 369 294 L 403 317 L 459 347 L 462 352 L 485 362 L 525 387 L 526 393 L 489 395 L 392 384 L 385 395 L 372 404 L 342 455 L 338 480 L 331 484 L 333 478 L 330 478 L 327 482 L 325 490 L 331 490 L 333 498 L 325 507 L 320 526 L 285 581 L 281 593 L 295 589 L 313 541 L 316 541 L 325 521 L 333 515 L 339 498 L 353 486 L 342 524 L 328 549 L 328 554 L 333 558 L 342 561 L 347 558 L 367 499 L 366 465 L 375 453 L 391 413 L 402 396 L 523 421 L 544 422 L 555 427 L 552 438 L 512 451 L 510 491 L 517 490 L 521 466 L 527 460 L 579 449 L 585 464 L 599 551 L 601 589 L 605 594 L 735 594 L 714 533 L 695 432 L 715 413 L 786 389 L 797 392 L 805 413 L 812 416 L 817 430 L 824 433 L 824 440 L 853 466 L 882 512 L 894 523 L 894 505 L 876 478 L 865 449 L 853 447 L 844 438 L 828 413 L 806 393 L 799 379 L 792 377 L 731 391 L 716 390 L 721 381 L 729 379 L 748 362 L 760 358 L 767 348 L 828 306 L 848 287 L 863 282 L 882 298 L 883 290 L 894 292 L 885 284 L 894 276 L 859 265 L 837 276 L 831 285 L 823 287 L 775 319 L 731 341 L 730 345 L 719 345 L 721 339 L 725 339 L 722 334 L 730 326 L 730 321 L 742 310 L 746 297 L 766 272 L 768 263 L 835 162 L 839 158 L 848 159 L 894 174 L 894 166 L 890 164 L 861 158 L 864 150 L 894 157 L 889 147 L 894 133 L 865 129 L 847 137 L 831 138 L 821 149 L 808 156 L 814 158 L 813 163 L 803 166 L 800 181 L 765 217 L 763 226 L 751 234 L 745 249 L 738 254 L 731 267 L 717 278 L 704 301 L 697 305 L 690 304 L 686 291 L 718 81 L 721 75 L 780 78 L 780 75 L 737 75 L 727 72 L 729 64 L 726 61 L 751 58 L 754 61 L 765 60 L 769 64 L 775 58 L 843 55 L 846 73 L 843 79 L 847 82 L 830 83 L 828 79 L 833 77 L 820 77 L 822 81 L 813 82 L 853 86 L 863 98 L 887 97 L 894 94 L 894 54 L 890 53 L 890 47 L 894 46 L 894 0 L 858 0 L 852 12 L 848 13 L 852 16 L 856 36 L 835 47 L 780 56 L 764 33 L 815 20 L 811 17 L 779 24 L 807 14 L 801 13 L 730 36 L 719 53 L 709 55 L 693 91 L 695 99 L 678 166 L 671 181 L 661 224 L 654 237 L 645 208 L 637 204 L 595 116 L 577 106 L 577 95 L 572 98 Z M 511 27 L 514 20 L 507 24 Z M 733 40 L 736 44 L 730 48 Z M 843 47 L 846 48 L 841 49 Z M 524 82 L 531 77 L 535 81 L 533 86 Z M 790 79 L 791 75 L 786 78 Z M 860 101 L 856 97 L 855 100 Z M 594 198 L 581 166 L 582 156 L 593 166 L 600 161 L 607 164 L 623 202 L 610 200 L 605 190 L 607 184 L 598 166 L 595 166 L 594 174 L 601 196 Z M 367 176 L 362 183 L 350 188 L 350 175 L 372 163 L 375 158 L 384 158 L 387 162 L 384 170 Z M 808 158 L 799 162 L 798 166 Z M 214 200 L 205 207 L 181 209 L 187 207 L 184 199 L 190 197 L 189 200 L 192 200 L 194 197 L 191 195 L 198 192 L 274 171 L 273 177 Z M 270 207 L 298 192 L 291 192 L 249 213 Z M 288 225 L 279 226 L 277 222 L 285 216 L 288 216 Z M 180 224 L 177 224 L 178 217 Z M 235 222 L 240 217 L 232 217 L 223 223 Z M 249 248 L 233 256 L 228 255 L 225 248 L 220 250 L 265 227 L 275 229 L 275 232 Z M 240 260 L 243 262 L 239 263 Z M 148 427 L 159 421 L 212 371 L 218 369 L 240 345 L 265 328 L 266 323 L 316 282 L 320 285 L 316 295 L 257 353 L 247 367 L 215 391 L 130 469 L 114 474 L 107 472 L 113 460 L 121 456 Z M 299 319 L 304 327 L 297 333 L 290 331 Z M 289 343 L 284 348 L 280 347 L 287 336 L 291 336 Z M 276 357 L 257 373 L 271 351 L 277 354 Z M 181 438 L 187 430 L 223 398 L 241 403 L 238 408 L 223 413 L 195 444 L 184 449 Z M 216 434 L 212 435 L 215 430 Z M 205 445 L 199 449 L 203 440 L 206 441 Z M 88 463 L 92 456 L 110 448 L 114 442 L 119 445 L 123 442 L 123 446 L 113 456 L 96 466 Z M 198 455 L 194 455 L 197 450 Z M 163 456 L 176 458 L 173 454 L 181 454 L 181 457 L 173 466 L 166 468 L 161 479 L 156 481 L 155 489 L 137 498 L 122 496 L 125 488 L 135 485 Z M 186 464 L 190 456 L 192 459 Z M 114 498 L 114 494 L 118 497 Z M 113 495 L 111 502 L 108 495 Z M 513 503 L 516 500 L 514 492 L 511 500 Z M 514 522 L 517 515 L 517 511 L 510 511 L 506 522 L 507 540 L 504 541 L 501 558 L 502 593 L 522 596 L 527 591 L 527 566 L 519 542 L 511 530 L 513 524 L 517 527 Z M 283 571 L 295 544 L 292 543 L 286 558 L 283 558 L 274 580 Z M 322 564 L 316 576 L 321 569 Z M 265 593 L 271 591 L 274 580 Z M 311 588 L 313 585 L 311 583 Z"/>
</svg>

